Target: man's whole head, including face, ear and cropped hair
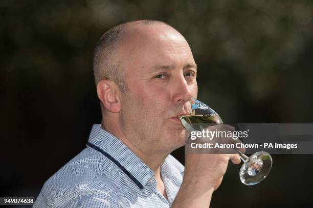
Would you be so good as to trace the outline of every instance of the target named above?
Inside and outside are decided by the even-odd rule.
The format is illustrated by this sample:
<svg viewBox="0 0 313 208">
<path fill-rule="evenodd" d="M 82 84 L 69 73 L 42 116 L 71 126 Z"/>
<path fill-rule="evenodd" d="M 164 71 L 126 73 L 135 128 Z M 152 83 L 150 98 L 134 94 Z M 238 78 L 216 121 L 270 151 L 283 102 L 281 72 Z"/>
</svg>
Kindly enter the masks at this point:
<svg viewBox="0 0 313 208">
<path fill-rule="evenodd" d="M 94 63 L 104 129 L 144 155 L 184 144 L 178 116 L 189 114 L 197 82 L 180 33 L 159 21 L 118 25 L 100 39 Z"/>
</svg>

